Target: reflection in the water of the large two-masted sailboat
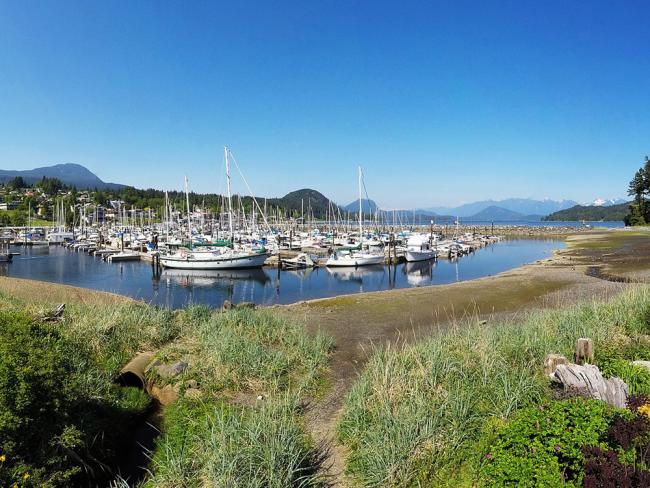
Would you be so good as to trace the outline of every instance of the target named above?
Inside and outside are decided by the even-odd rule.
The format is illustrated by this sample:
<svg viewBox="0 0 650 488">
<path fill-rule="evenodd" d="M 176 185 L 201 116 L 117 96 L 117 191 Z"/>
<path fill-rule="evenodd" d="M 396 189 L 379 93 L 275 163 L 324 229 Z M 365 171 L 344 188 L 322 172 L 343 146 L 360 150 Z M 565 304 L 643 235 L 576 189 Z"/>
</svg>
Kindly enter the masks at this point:
<svg viewBox="0 0 650 488">
<path fill-rule="evenodd" d="M 168 284 L 175 284 L 184 288 L 212 288 L 218 287 L 219 285 L 229 286 L 237 281 L 248 281 L 265 285 L 270 280 L 266 272 L 260 268 L 224 270 L 165 268 L 160 273 L 160 279 L 166 281 Z"/>
</svg>

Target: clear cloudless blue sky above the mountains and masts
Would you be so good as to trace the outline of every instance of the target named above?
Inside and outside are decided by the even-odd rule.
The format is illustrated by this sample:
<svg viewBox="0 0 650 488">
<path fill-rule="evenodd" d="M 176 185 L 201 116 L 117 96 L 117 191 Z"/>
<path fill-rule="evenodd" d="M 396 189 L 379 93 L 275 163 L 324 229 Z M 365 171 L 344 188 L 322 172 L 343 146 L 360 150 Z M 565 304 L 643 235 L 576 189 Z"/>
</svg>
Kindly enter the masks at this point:
<svg viewBox="0 0 650 488">
<path fill-rule="evenodd" d="M 0 168 L 385 208 L 624 196 L 648 2 L 0 0 Z M 220 185 L 221 182 L 221 185 Z M 242 183 L 236 189 L 245 191 Z"/>
</svg>

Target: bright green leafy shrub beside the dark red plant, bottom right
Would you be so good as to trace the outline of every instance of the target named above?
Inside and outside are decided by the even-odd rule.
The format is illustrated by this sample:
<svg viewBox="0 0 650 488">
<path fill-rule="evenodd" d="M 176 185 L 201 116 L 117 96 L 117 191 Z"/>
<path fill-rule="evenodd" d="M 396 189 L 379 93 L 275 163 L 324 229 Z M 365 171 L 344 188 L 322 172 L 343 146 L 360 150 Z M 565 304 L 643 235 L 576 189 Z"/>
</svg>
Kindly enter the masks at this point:
<svg viewBox="0 0 650 488">
<path fill-rule="evenodd" d="M 614 414 L 604 402 L 582 398 L 525 408 L 498 433 L 481 479 L 490 486 L 580 486 L 582 449 L 608 447 Z"/>
</svg>

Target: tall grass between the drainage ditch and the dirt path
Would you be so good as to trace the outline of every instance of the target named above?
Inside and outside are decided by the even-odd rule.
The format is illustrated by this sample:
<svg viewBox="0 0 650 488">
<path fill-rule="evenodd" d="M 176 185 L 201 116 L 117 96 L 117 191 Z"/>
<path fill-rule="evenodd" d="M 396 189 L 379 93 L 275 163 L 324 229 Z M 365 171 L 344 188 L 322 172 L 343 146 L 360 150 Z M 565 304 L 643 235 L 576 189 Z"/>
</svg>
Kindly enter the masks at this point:
<svg viewBox="0 0 650 488">
<path fill-rule="evenodd" d="M 183 381 L 204 394 L 169 409 L 147 486 L 322 484 L 301 402 L 321 384 L 331 340 L 265 311 L 193 313 L 188 340 L 160 354 L 190 358 Z"/>
</svg>

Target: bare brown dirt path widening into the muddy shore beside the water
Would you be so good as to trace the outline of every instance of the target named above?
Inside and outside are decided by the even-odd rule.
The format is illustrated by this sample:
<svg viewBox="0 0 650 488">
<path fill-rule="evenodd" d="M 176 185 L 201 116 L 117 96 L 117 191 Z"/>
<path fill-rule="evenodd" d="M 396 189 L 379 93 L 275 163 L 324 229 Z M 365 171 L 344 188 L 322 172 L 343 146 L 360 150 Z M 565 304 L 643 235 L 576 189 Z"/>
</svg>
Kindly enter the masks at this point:
<svg viewBox="0 0 650 488">
<path fill-rule="evenodd" d="M 594 265 L 637 281 L 650 276 L 650 232 L 593 231 L 570 237 L 568 244 L 553 258 L 496 276 L 278 307 L 280 313 L 303 320 L 311 331 L 330 334 L 336 343 L 331 388 L 307 416 L 316 442 L 330 446 L 326 466 L 334 486 L 345 486 L 346 457 L 335 439 L 336 423 L 345 395 L 373 346 L 412 343 L 454 322 L 487 320 L 489 325 L 534 308 L 608 298 L 634 286 L 588 276 L 586 271 Z"/>
</svg>

